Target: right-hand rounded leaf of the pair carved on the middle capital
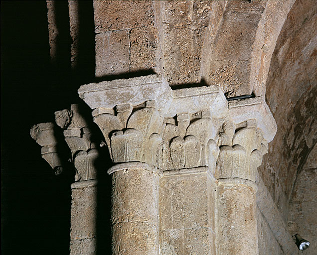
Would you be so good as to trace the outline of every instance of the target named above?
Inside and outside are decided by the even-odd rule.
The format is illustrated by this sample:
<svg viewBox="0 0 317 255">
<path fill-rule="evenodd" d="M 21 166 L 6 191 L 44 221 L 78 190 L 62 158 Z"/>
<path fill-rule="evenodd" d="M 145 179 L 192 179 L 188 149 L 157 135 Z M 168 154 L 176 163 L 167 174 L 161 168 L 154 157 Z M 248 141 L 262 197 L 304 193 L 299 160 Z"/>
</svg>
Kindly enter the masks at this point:
<svg viewBox="0 0 317 255">
<path fill-rule="evenodd" d="M 194 135 L 188 135 L 184 142 L 185 168 L 192 168 L 201 165 L 202 144 Z"/>
</svg>

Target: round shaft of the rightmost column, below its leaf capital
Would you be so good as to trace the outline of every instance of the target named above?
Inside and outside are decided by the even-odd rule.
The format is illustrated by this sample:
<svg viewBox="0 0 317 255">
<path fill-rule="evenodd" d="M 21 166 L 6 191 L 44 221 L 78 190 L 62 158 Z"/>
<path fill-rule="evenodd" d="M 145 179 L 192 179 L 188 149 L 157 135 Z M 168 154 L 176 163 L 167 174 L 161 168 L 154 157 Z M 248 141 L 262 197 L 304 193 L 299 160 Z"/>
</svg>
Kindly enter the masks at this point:
<svg viewBox="0 0 317 255">
<path fill-rule="evenodd" d="M 218 180 L 218 255 L 257 255 L 256 186 L 240 178 Z"/>
</svg>

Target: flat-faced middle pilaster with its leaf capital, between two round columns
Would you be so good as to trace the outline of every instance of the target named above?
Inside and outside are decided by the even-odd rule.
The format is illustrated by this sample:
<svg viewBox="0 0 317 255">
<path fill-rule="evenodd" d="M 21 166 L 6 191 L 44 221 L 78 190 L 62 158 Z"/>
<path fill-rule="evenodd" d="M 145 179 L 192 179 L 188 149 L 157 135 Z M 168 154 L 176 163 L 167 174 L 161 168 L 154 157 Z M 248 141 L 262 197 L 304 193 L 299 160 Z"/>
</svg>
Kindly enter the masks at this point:
<svg viewBox="0 0 317 255">
<path fill-rule="evenodd" d="M 214 255 L 214 167 L 219 148 L 211 111 L 166 118 L 160 180 L 161 255 Z"/>
</svg>

